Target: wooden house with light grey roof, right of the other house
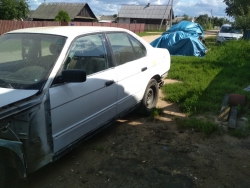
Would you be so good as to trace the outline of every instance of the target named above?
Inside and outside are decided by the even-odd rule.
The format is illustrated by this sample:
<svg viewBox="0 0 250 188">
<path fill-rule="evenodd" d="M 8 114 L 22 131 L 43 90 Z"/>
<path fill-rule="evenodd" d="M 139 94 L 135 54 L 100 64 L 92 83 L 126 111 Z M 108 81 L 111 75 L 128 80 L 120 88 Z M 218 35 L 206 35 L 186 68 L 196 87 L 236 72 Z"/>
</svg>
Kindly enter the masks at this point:
<svg viewBox="0 0 250 188">
<path fill-rule="evenodd" d="M 174 18 L 173 9 L 167 5 L 122 5 L 118 23 L 168 24 Z"/>
</svg>

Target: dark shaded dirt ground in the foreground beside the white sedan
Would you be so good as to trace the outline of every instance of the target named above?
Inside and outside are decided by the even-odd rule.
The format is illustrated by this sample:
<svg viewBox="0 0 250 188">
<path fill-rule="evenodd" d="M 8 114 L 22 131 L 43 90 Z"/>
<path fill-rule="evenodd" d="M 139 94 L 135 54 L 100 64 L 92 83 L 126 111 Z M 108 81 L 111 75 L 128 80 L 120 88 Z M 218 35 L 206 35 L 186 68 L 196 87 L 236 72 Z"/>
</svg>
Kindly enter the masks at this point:
<svg viewBox="0 0 250 188">
<path fill-rule="evenodd" d="M 178 130 L 174 118 L 185 114 L 161 98 L 163 116 L 131 113 L 18 187 L 250 187 L 250 139 Z"/>
</svg>

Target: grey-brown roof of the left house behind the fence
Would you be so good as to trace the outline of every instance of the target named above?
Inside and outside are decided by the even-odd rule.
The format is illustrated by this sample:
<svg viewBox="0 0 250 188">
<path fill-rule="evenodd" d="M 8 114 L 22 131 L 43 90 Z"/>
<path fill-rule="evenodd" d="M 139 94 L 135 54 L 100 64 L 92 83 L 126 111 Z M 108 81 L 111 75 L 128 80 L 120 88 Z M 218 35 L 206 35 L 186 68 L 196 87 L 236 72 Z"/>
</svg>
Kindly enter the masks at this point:
<svg viewBox="0 0 250 188">
<path fill-rule="evenodd" d="M 73 20 L 74 18 L 79 18 L 78 14 L 83 8 L 89 9 L 91 14 L 93 14 L 93 16 L 88 17 L 88 19 L 96 19 L 87 3 L 42 3 L 32 14 L 32 18 L 55 19 L 58 12 L 64 10 L 69 14 L 70 19 Z M 80 18 L 86 19 L 86 17 Z"/>
</svg>

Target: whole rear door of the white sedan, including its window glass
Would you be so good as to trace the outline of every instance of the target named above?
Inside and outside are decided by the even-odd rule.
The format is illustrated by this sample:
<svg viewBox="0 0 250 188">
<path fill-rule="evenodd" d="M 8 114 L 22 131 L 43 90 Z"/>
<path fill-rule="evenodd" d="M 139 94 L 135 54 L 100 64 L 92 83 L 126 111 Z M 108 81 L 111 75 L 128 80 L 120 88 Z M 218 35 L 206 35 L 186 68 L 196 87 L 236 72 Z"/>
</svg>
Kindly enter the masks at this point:
<svg viewBox="0 0 250 188">
<path fill-rule="evenodd" d="M 146 48 L 127 33 L 108 33 L 114 58 L 118 84 L 117 114 L 137 104 L 148 83 Z"/>
</svg>

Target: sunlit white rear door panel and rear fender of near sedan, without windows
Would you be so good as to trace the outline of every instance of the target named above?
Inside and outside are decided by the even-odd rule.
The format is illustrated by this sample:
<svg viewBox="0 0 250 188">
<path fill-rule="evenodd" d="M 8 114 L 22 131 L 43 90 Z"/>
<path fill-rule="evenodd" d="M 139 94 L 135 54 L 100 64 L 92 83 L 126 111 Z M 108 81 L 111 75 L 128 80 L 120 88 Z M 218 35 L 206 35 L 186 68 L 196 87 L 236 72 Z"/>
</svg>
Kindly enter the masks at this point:
<svg viewBox="0 0 250 188">
<path fill-rule="evenodd" d="M 153 76 L 162 76 L 169 70 L 169 52 L 159 48 L 152 50 L 148 56 L 116 68 L 118 85 L 121 86 L 118 88 L 117 114 L 142 100 L 146 86 Z"/>
</svg>

